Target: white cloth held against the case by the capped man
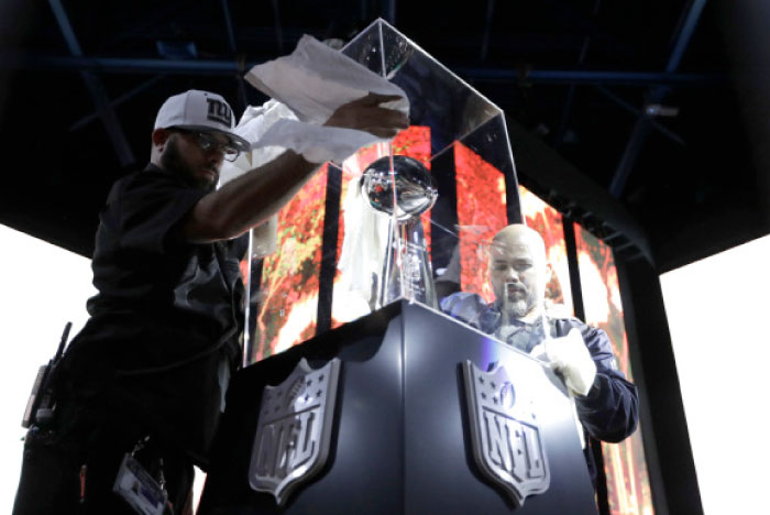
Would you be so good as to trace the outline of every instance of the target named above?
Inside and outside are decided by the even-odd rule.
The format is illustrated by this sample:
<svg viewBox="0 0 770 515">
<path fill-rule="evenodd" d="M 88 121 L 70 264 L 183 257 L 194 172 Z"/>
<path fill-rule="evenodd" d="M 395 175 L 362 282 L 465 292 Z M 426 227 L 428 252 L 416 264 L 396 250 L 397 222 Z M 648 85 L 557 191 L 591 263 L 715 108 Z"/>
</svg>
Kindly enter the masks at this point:
<svg viewBox="0 0 770 515">
<path fill-rule="evenodd" d="M 252 146 L 280 145 L 311 163 L 341 163 L 362 146 L 383 141 L 365 131 L 322 127 L 340 106 L 376 92 L 402 97 L 382 107 L 409 112 L 402 88 L 309 35 L 290 55 L 254 66 L 245 78 L 297 118 L 272 124 L 262 138 L 249 140 Z"/>
</svg>

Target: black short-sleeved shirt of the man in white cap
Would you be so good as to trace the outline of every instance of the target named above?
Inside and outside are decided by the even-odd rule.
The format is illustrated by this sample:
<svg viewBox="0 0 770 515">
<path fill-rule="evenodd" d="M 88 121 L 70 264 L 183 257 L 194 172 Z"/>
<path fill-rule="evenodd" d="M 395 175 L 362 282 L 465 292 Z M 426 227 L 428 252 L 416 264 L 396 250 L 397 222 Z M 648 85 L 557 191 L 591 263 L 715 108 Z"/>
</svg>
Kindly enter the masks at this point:
<svg viewBox="0 0 770 515">
<path fill-rule="evenodd" d="M 94 253 L 91 318 L 63 361 L 72 395 L 125 408 L 202 459 L 220 407 L 218 369 L 237 366 L 245 237 L 182 239 L 206 194 L 148 165 L 112 187 Z"/>
</svg>

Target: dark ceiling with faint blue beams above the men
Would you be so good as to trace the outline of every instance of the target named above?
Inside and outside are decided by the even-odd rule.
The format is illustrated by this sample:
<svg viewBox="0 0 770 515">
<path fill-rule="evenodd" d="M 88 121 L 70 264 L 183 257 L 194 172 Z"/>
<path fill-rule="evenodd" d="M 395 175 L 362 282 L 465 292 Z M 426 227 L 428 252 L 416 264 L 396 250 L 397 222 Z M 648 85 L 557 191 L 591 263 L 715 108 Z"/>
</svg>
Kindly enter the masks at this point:
<svg viewBox="0 0 770 515">
<path fill-rule="evenodd" d="M 239 69 L 382 17 L 616 199 L 670 270 L 770 232 L 751 103 L 767 74 L 744 74 L 758 43 L 729 4 L 3 0 L 0 222 L 90 255 L 107 191 L 147 161 L 166 97 L 261 103 Z"/>
</svg>

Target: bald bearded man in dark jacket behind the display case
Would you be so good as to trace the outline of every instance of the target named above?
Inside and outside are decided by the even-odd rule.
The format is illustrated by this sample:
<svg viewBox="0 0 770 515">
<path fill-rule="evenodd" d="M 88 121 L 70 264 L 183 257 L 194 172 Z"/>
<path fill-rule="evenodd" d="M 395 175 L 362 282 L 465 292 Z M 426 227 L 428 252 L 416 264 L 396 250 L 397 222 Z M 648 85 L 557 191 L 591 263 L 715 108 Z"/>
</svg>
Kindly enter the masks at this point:
<svg viewBox="0 0 770 515">
<path fill-rule="evenodd" d="M 461 292 L 442 299 L 441 309 L 549 363 L 574 397 L 585 432 L 597 440 L 620 441 L 637 426 L 636 386 L 617 370 L 603 330 L 576 318 L 546 313 L 550 273 L 540 234 L 514 223 L 495 234 L 490 250 L 495 302 L 486 304 L 476 294 Z M 596 468 L 587 446 L 584 453 L 595 482 Z"/>
</svg>

